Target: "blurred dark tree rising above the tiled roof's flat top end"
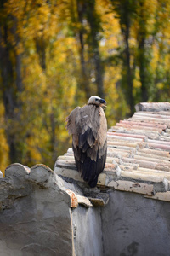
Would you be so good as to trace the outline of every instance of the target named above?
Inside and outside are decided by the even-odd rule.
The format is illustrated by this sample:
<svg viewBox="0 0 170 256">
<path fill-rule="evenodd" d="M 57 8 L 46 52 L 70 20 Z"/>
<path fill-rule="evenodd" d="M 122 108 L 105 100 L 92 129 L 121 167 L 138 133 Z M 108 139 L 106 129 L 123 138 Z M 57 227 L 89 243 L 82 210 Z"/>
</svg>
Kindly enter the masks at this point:
<svg viewBox="0 0 170 256">
<path fill-rule="evenodd" d="M 156 1 L 138 1 L 136 19 L 133 24 L 134 38 L 137 41 L 136 65 L 139 67 L 140 102 L 147 102 L 150 98 L 150 89 L 154 86 L 152 61 L 153 44 L 155 40 Z"/>
</svg>

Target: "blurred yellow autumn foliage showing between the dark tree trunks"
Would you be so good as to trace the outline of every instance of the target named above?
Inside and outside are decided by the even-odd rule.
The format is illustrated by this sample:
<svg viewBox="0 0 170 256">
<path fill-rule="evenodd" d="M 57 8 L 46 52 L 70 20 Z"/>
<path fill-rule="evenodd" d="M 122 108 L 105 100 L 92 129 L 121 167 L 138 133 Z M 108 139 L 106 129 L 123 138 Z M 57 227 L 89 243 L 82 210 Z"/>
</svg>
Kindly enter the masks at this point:
<svg viewBox="0 0 170 256">
<path fill-rule="evenodd" d="M 83 2 L 83 1 L 82 1 Z M 108 107 L 105 110 L 108 126 L 125 117 L 127 102 L 121 88 L 122 53 L 125 52 L 120 20 L 116 17 L 110 0 L 96 0 L 95 11 L 99 15 L 99 56 L 104 68 L 104 90 Z M 139 93 L 141 82 L 137 56 L 139 55 L 139 33 L 146 33 L 145 44 L 150 45 L 149 63 L 152 76 L 156 77 L 161 65 L 161 75 L 169 72 L 169 13 L 170 0 L 142 1 L 137 3 L 135 19 L 130 24 L 130 66 L 133 70 L 133 95 Z M 141 18 L 142 17 L 142 18 Z M 97 91 L 94 81 L 94 60 L 89 59 L 92 46 L 88 44 L 90 26 L 86 15 L 78 21 L 76 0 L 7 0 L 4 3 L 2 20 L 7 20 L 7 41 L 10 45 L 10 59 L 16 79 L 16 55 L 22 56 L 21 72 L 24 90 L 18 95 L 22 102 L 20 123 L 8 120 L 12 132 L 20 142 L 22 163 L 32 165 L 48 161 L 52 164 L 57 154 L 67 148 L 70 141 L 65 131 L 65 118 L 77 104 L 84 104 L 85 93 L 80 88 L 81 44 L 83 32 L 83 57 L 88 67 L 90 86 Z M 143 20 L 141 20 L 143 19 Z M 143 31 L 144 30 L 144 31 Z M 4 33 L 4 30 L 1 30 Z M 151 40 L 153 41 L 152 43 Z M 148 43 L 149 42 L 149 43 Z M 3 48 L 7 42 L 2 40 Z M 148 49 L 149 49 L 148 47 Z M 94 51 L 96 49 L 93 49 Z M 163 53 L 161 55 L 161 53 Z M 110 58 L 114 61 L 110 61 Z M 42 61 L 45 67 L 42 67 Z M 109 63 L 109 64 L 108 64 Z M 93 67 L 92 70 L 89 67 Z M 0 79 L 0 84 L 2 80 Z M 2 85 L 3 86 L 3 85 Z M 156 84 L 158 90 L 164 82 Z M 16 88 L 14 87 L 14 92 Z M 77 101 L 77 94 L 81 101 Z M 0 95 L 3 98 L 2 95 Z M 8 165 L 8 143 L 4 130 L 4 108 L 0 104 L 0 168 Z M 15 110 L 20 112 L 19 109 Z M 65 148 L 66 147 L 66 148 Z"/>
</svg>

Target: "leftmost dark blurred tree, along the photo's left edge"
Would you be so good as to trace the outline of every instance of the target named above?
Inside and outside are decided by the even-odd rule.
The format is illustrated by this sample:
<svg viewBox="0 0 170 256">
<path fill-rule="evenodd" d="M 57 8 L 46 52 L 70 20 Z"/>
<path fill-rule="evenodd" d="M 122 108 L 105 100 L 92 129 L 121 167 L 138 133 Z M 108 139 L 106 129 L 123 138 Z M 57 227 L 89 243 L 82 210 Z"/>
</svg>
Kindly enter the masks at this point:
<svg viewBox="0 0 170 256">
<path fill-rule="evenodd" d="M 11 7 L 12 8 L 12 7 Z M 22 154 L 20 139 L 16 131 L 20 132 L 20 114 L 22 101 L 20 94 L 24 90 L 21 76 L 20 35 L 18 33 L 19 20 L 8 8 L 8 1 L 2 1 L 0 6 L 0 84 L 3 92 L 5 109 L 6 136 L 9 145 L 9 158 L 20 160 Z"/>
</svg>

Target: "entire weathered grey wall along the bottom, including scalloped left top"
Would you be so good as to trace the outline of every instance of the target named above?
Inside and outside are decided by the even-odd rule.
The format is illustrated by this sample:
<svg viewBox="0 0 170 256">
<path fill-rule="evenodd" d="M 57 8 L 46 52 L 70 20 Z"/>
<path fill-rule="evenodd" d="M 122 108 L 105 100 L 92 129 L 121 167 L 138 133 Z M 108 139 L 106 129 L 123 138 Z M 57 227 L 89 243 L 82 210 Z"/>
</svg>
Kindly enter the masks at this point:
<svg viewBox="0 0 170 256">
<path fill-rule="evenodd" d="M 110 190 L 105 207 L 91 207 L 44 166 L 8 167 L 0 188 L 2 256 L 169 256 L 168 202 Z"/>
</svg>

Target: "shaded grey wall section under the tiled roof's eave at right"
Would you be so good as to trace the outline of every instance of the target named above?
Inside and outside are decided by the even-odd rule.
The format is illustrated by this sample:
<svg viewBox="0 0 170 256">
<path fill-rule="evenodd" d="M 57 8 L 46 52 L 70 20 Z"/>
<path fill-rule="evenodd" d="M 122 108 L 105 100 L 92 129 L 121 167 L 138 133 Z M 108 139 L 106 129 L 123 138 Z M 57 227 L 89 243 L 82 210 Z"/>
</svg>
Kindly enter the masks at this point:
<svg viewBox="0 0 170 256">
<path fill-rule="evenodd" d="M 104 255 L 170 255 L 170 204 L 112 192 L 102 208 Z"/>
</svg>

